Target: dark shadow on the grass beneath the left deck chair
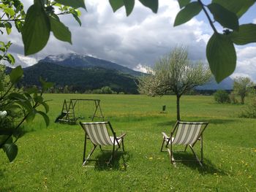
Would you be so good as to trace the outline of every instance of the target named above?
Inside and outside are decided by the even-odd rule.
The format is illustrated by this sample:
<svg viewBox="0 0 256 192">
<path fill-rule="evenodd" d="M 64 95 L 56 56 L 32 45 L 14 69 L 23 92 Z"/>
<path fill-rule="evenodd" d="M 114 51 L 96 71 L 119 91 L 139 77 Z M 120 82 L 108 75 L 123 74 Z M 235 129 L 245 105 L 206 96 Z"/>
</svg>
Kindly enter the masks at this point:
<svg viewBox="0 0 256 192">
<path fill-rule="evenodd" d="M 117 151 L 112 158 L 112 161 L 108 164 L 108 160 L 112 155 L 111 150 L 102 150 L 102 153 L 97 155 L 94 158 L 94 169 L 97 171 L 111 171 L 111 170 L 127 170 L 127 162 L 131 158 L 131 154 L 129 152 Z M 91 166 L 91 162 L 89 162 L 88 166 Z"/>
</svg>

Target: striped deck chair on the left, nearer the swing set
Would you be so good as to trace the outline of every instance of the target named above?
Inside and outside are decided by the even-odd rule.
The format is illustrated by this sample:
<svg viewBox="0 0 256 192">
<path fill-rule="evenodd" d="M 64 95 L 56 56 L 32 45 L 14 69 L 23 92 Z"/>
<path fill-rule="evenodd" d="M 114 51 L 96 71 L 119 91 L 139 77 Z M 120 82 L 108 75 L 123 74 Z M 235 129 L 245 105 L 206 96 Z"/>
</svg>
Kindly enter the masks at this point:
<svg viewBox="0 0 256 192">
<path fill-rule="evenodd" d="M 102 146 L 113 146 L 112 155 L 108 161 L 108 164 L 114 157 L 114 153 L 122 146 L 122 150 L 124 151 L 124 136 L 126 134 L 121 134 L 120 137 L 116 137 L 116 133 L 113 131 L 113 128 L 110 122 L 94 122 L 94 123 L 81 123 L 83 130 L 85 131 L 85 141 L 84 141 L 84 149 L 83 149 L 83 166 L 86 166 L 87 161 L 95 161 L 89 160 L 92 153 L 94 153 L 95 148 L 99 145 L 99 148 L 102 150 Z M 108 134 L 108 128 L 110 128 L 113 136 Z M 86 140 L 89 139 L 94 147 L 91 149 L 88 157 L 86 158 Z M 117 145 L 117 147 L 116 147 Z M 115 150 L 116 147 L 116 150 Z"/>
</svg>

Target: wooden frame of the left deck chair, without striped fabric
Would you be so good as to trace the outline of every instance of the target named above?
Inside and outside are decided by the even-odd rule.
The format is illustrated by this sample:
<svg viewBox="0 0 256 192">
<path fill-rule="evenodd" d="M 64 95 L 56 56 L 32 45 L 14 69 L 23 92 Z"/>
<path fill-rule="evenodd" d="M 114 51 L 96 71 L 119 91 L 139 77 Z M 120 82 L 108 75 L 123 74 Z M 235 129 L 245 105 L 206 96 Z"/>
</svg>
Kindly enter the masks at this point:
<svg viewBox="0 0 256 192">
<path fill-rule="evenodd" d="M 87 139 L 89 139 L 91 141 L 91 139 L 89 138 L 89 134 L 87 134 L 87 132 L 86 132 L 86 128 L 83 127 L 83 125 L 85 125 L 85 124 L 105 124 L 107 126 L 107 131 L 108 131 L 108 127 L 110 128 L 111 133 L 113 134 L 113 150 L 112 150 L 112 155 L 110 156 L 110 159 L 108 160 L 108 164 L 110 163 L 110 161 L 113 160 L 114 155 L 119 148 L 122 147 L 122 150 L 124 151 L 124 137 L 126 136 L 126 134 L 121 134 L 120 137 L 116 137 L 116 132 L 113 131 L 113 128 L 109 121 L 108 122 L 94 122 L 94 123 L 80 122 L 80 126 L 82 126 L 83 130 L 85 131 L 84 148 L 83 148 L 83 166 L 86 166 L 86 163 L 88 161 L 97 161 L 95 159 L 89 159 L 89 158 L 91 157 L 92 153 L 94 153 L 94 150 L 98 146 L 98 145 L 95 145 L 93 142 L 91 142 L 92 145 L 94 145 L 94 146 L 92 147 L 91 152 L 89 153 L 89 155 L 86 158 L 86 141 L 87 141 Z M 118 142 L 118 139 L 121 139 L 121 143 Z M 116 144 L 117 144 L 117 148 L 116 148 Z M 110 146 L 110 145 L 107 145 L 107 146 Z M 100 150 L 102 150 L 102 145 L 99 145 L 99 148 L 100 148 Z"/>
</svg>

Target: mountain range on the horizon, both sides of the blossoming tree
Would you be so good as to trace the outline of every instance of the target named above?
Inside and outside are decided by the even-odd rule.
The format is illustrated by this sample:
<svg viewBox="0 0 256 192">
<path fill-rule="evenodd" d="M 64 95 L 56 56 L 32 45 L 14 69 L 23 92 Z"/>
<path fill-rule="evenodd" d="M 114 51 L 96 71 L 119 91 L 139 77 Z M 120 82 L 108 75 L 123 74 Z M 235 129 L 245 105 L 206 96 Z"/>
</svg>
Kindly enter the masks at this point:
<svg viewBox="0 0 256 192">
<path fill-rule="evenodd" d="M 56 88 L 69 86 L 72 92 L 83 93 L 109 86 L 113 91 L 138 93 L 137 78 L 143 75 L 125 66 L 74 53 L 48 55 L 37 64 L 23 69 L 23 86 L 39 85 L 39 77 L 54 82 Z M 197 90 L 231 90 L 233 80 L 227 77 L 217 84 L 212 78 L 206 85 L 197 86 Z"/>
</svg>

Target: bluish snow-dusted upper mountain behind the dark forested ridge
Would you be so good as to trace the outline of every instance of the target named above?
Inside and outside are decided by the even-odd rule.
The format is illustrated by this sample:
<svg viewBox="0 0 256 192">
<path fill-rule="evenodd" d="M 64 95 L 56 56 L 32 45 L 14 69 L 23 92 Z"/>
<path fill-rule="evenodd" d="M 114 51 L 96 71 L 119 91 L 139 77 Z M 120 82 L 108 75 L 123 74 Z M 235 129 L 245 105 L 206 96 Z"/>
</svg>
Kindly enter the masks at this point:
<svg viewBox="0 0 256 192">
<path fill-rule="evenodd" d="M 61 55 L 48 55 L 46 58 L 40 60 L 39 62 L 48 62 L 53 64 L 59 64 L 61 66 L 69 66 L 72 68 L 91 68 L 100 67 L 104 69 L 112 69 L 121 73 L 130 74 L 132 76 L 140 76 L 141 72 L 136 72 L 125 66 L 115 64 L 110 61 L 105 61 L 99 58 L 94 58 L 88 55 L 78 55 L 75 53 L 61 54 Z"/>
</svg>

